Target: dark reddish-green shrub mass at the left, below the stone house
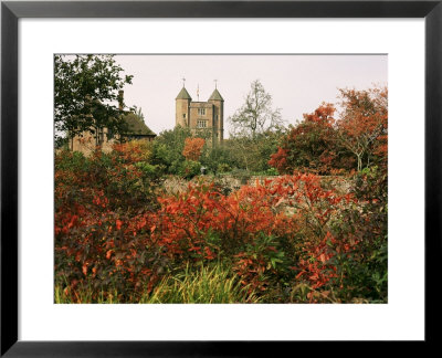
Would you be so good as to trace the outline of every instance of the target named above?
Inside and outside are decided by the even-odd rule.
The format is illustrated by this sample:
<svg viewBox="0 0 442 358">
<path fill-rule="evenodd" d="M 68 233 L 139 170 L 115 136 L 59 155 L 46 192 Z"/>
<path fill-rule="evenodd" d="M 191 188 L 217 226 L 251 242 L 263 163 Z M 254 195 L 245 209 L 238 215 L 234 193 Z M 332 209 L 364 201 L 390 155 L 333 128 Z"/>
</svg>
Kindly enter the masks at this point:
<svg viewBox="0 0 442 358">
<path fill-rule="evenodd" d="M 73 294 L 112 286 L 127 298 L 149 282 L 155 252 L 145 252 L 148 235 L 136 236 L 129 220 L 156 207 L 155 185 L 137 166 L 143 158 L 128 144 L 55 158 L 55 281 L 67 281 Z"/>
</svg>

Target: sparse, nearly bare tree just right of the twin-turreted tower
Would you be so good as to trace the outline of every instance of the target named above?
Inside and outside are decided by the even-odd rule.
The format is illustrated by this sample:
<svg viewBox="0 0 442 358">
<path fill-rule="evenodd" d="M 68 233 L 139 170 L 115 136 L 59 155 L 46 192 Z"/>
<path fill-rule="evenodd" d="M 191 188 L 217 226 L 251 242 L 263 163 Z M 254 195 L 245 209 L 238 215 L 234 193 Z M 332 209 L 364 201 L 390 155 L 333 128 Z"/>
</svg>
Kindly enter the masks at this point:
<svg viewBox="0 0 442 358">
<path fill-rule="evenodd" d="M 229 118 L 234 134 L 255 138 L 256 134 L 278 128 L 283 124 L 280 109 L 272 108 L 272 96 L 260 80 L 253 81 L 244 105 Z"/>
</svg>

